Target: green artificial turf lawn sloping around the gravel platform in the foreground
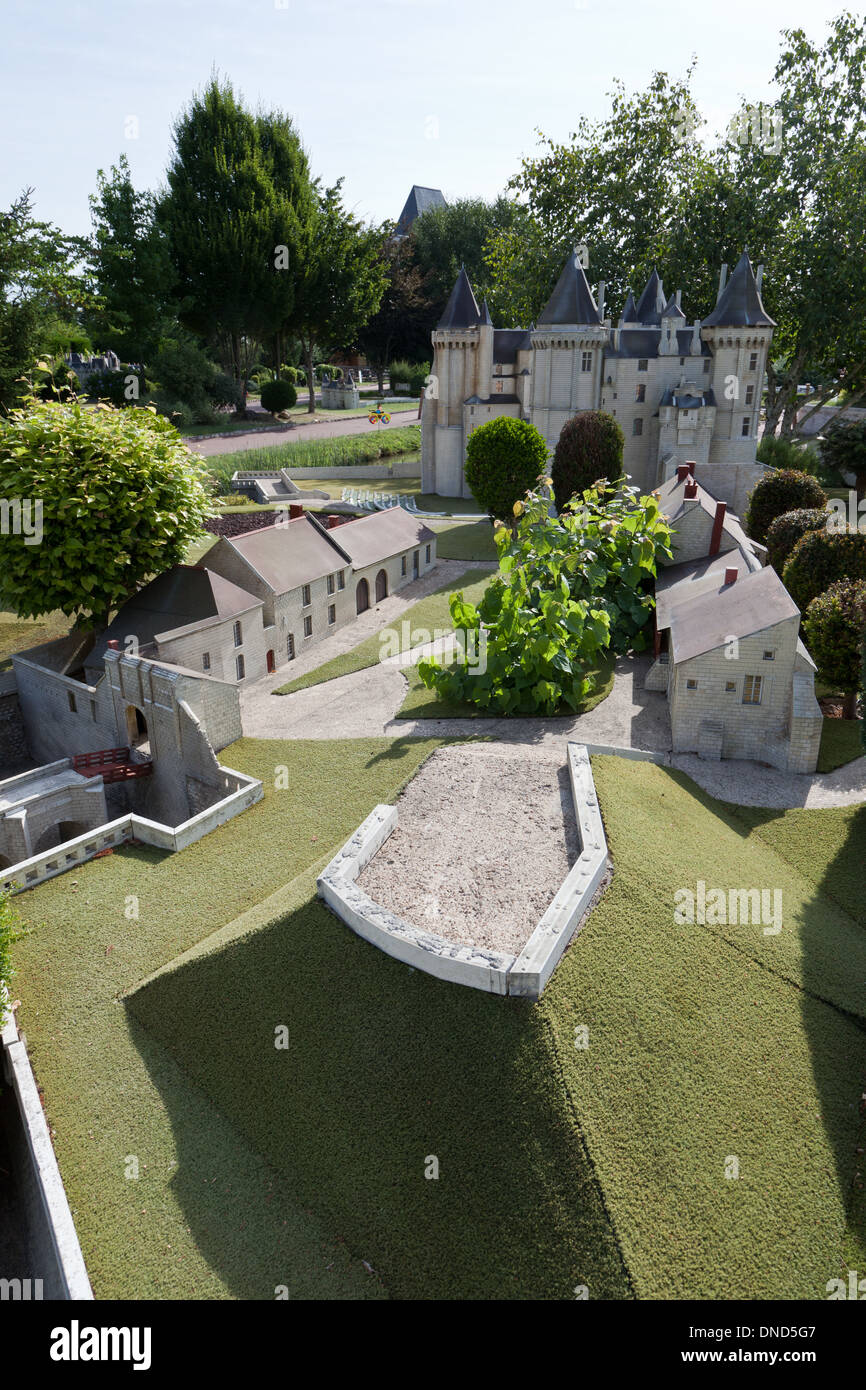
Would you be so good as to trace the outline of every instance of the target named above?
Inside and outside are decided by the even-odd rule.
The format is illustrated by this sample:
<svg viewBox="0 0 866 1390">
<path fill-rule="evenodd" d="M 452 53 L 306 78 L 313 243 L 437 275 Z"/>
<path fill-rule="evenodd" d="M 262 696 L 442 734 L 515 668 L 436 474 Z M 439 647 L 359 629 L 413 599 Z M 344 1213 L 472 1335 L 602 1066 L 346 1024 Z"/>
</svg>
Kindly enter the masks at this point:
<svg viewBox="0 0 866 1390">
<path fill-rule="evenodd" d="M 314 897 L 431 746 L 242 741 L 261 808 L 22 899 L 44 923 L 22 1023 L 97 1293 L 826 1297 L 863 1250 L 866 810 L 738 810 L 594 759 L 614 877 L 527 1005 L 410 970 Z M 781 887 L 783 931 L 676 926 L 698 878 Z"/>
</svg>

